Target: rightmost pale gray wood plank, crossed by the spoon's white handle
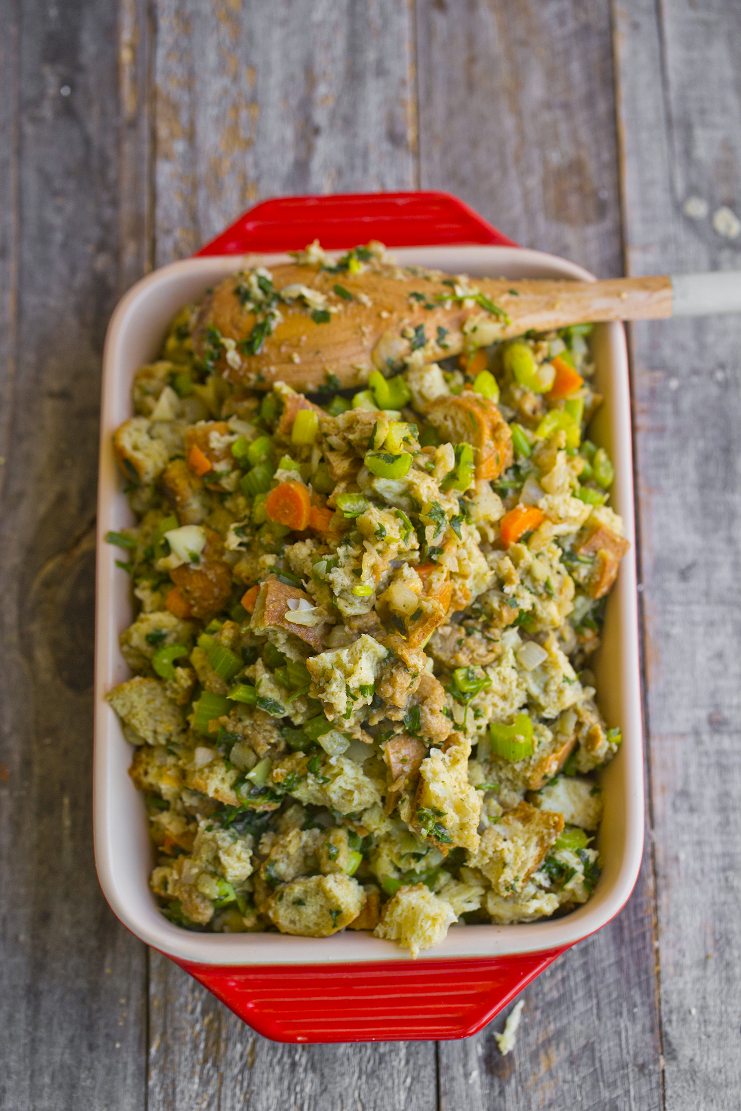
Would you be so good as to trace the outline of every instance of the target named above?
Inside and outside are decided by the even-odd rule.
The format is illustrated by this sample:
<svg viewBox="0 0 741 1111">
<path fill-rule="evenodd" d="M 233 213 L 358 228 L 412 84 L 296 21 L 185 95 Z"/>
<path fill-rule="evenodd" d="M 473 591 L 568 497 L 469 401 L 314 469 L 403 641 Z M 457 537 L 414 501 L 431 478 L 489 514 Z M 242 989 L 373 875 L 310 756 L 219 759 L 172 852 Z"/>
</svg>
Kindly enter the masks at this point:
<svg viewBox="0 0 741 1111">
<path fill-rule="evenodd" d="M 738 6 L 615 10 L 632 273 L 740 269 Z M 649 74 L 661 74 L 661 81 Z M 708 217 L 691 219 L 689 198 Z M 695 206 L 697 209 L 697 206 Z M 738 317 L 634 327 L 640 527 L 667 1107 L 739 1102 Z"/>
</svg>

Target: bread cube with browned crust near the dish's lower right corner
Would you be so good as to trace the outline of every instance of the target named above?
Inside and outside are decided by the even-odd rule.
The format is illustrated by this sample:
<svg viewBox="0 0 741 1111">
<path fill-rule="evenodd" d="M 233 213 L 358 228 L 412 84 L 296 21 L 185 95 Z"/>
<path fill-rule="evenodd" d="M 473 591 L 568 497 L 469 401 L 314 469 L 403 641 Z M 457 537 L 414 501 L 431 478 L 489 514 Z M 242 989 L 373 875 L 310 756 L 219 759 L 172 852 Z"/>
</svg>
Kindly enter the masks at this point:
<svg viewBox="0 0 741 1111">
<path fill-rule="evenodd" d="M 562 829 L 561 814 L 520 802 L 483 831 L 471 865 L 487 877 L 497 894 L 518 894 L 538 871 Z"/>
</svg>

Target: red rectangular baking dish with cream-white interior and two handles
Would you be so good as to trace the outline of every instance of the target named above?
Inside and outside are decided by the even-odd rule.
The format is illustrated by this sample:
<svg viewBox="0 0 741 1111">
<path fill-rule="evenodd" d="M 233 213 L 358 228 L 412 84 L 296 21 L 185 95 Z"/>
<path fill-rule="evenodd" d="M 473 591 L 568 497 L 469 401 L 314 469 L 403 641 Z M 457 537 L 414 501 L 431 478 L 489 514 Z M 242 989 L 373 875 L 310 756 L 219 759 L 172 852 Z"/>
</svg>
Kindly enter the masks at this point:
<svg viewBox="0 0 741 1111">
<path fill-rule="evenodd" d="M 447 194 L 292 198 L 258 206 L 200 257 L 163 267 L 126 294 L 111 319 L 103 357 L 96 618 L 98 873 L 113 911 L 138 938 L 176 960 L 268 1037 L 301 1042 L 465 1037 L 560 952 L 618 913 L 640 867 L 643 757 L 629 374 L 621 324 L 594 330 L 595 381 L 605 404 L 592 426 L 592 439 L 613 459 L 612 503 L 631 541 L 608 600 L 603 644 L 594 663 L 602 712 L 609 723 L 621 725 L 624 740 L 601 775 L 602 877 L 578 910 L 530 924 L 457 925 L 417 961 L 362 932 L 319 939 L 182 930 L 162 917 L 149 890 L 152 849 L 144 803 L 128 775 L 131 748 L 103 699 L 129 675 L 119 650 L 119 633 L 131 620 L 128 578 L 103 537 L 133 523 L 111 450 L 114 429 L 132 412 L 133 374 L 156 354 L 178 309 L 243 266 L 253 243 L 264 249 L 274 242 L 284 250 L 314 238 L 324 247 L 344 249 L 377 238 L 394 248 L 402 263 L 473 277 L 591 277 L 562 259 L 510 244 Z M 457 238 L 462 243 L 455 243 Z M 262 258 L 268 266 L 287 261 L 267 251 Z"/>
</svg>

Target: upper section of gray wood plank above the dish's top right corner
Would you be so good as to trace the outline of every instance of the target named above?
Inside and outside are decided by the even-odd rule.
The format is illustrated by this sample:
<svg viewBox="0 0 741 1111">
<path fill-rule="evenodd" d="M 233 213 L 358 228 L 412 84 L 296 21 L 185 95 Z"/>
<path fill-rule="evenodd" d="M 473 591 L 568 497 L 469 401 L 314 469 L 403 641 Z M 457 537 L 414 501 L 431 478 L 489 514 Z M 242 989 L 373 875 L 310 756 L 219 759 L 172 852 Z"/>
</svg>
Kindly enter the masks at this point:
<svg viewBox="0 0 741 1111">
<path fill-rule="evenodd" d="M 422 188 L 622 271 L 608 0 L 417 0 Z"/>
</svg>

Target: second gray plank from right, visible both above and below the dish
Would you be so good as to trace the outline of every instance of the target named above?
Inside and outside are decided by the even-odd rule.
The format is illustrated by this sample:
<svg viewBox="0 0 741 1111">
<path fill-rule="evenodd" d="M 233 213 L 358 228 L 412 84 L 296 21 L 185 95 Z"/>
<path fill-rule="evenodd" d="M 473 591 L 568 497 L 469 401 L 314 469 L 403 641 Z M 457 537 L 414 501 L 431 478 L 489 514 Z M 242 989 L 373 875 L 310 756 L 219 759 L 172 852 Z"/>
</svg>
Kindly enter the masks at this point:
<svg viewBox="0 0 741 1111">
<path fill-rule="evenodd" d="M 422 184 L 459 192 L 523 246 L 619 273 L 608 4 L 421 0 L 417 11 Z M 660 1107 L 651 902 L 647 855 L 622 914 L 527 989 L 511 1055 L 493 1040 L 503 1015 L 441 1043 L 441 1108 Z"/>
</svg>

